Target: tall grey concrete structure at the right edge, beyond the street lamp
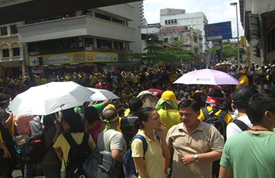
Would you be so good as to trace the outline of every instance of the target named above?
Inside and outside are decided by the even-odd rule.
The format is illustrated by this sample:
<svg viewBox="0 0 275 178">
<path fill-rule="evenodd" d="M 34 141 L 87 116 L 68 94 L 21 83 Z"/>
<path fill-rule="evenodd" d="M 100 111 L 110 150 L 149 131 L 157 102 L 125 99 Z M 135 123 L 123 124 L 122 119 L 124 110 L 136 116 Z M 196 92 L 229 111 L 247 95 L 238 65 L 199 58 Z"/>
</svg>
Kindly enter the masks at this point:
<svg viewBox="0 0 275 178">
<path fill-rule="evenodd" d="M 239 10 L 250 46 L 248 62 L 275 64 L 275 1 L 239 0 Z"/>
</svg>

